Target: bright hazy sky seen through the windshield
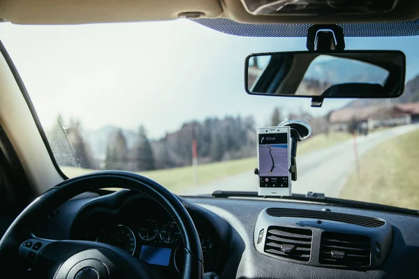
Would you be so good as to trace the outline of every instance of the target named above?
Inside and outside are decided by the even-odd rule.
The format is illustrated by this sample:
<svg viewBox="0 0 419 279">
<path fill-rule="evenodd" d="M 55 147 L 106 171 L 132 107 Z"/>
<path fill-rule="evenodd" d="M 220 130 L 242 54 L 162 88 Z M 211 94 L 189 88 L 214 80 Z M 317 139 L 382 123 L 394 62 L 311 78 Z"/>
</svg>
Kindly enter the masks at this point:
<svg viewBox="0 0 419 279">
<path fill-rule="evenodd" d="M 253 115 L 269 122 L 284 114 L 325 114 L 349 100 L 250 96 L 244 91 L 244 59 L 257 52 L 305 50 L 305 38 L 247 38 L 189 20 L 71 26 L 0 24 L 12 57 L 44 128 L 57 115 L 80 119 L 87 129 L 107 125 L 149 137 L 207 116 Z M 346 38 L 346 50 L 402 50 L 407 80 L 419 73 L 418 37 Z"/>
</svg>

